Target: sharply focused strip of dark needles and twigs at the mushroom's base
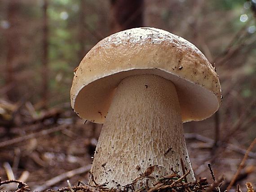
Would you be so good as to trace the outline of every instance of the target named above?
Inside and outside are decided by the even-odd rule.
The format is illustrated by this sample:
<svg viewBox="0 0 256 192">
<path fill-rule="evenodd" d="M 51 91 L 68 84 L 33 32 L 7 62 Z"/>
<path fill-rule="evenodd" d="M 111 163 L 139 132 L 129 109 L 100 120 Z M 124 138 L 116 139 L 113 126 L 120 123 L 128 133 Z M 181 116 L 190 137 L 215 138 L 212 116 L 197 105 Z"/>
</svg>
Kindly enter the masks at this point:
<svg viewBox="0 0 256 192">
<path fill-rule="evenodd" d="M 152 167 L 148 168 L 147 171 L 150 171 Z M 147 172 L 146 171 L 146 172 Z M 215 180 L 212 184 L 207 182 L 206 178 L 200 178 L 192 183 L 185 182 L 186 175 L 189 174 L 190 171 L 185 173 L 182 176 L 177 175 L 176 173 L 166 175 L 160 179 L 156 183 L 153 184 L 152 187 L 148 186 L 148 183 L 145 186 L 142 186 L 138 190 L 134 190 L 132 186 L 137 182 L 134 181 L 129 184 L 128 187 L 120 188 L 107 188 L 106 184 L 97 184 L 94 182 L 94 185 L 89 185 L 82 181 L 79 181 L 77 185 L 71 186 L 69 181 L 69 185 L 65 188 L 59 188 L 57 191 L 48 189 L 45 192 L 222 192 L 220 190 L 221 182 L 223 181 L 223 176 L 220 179 Z M 145 174 L 145 173 L 144 173 Z M 142 176 L 145 176 L 145 175 Z M 149 176 L 150 172 L 147 173 Z M 138 179 L 139 180 L 139 179 Z M 10 183 L 19 183 L 18 188 L 15 192 L 29 192 L 30 188 L 26 183 L 22 183 L 18 180 L 6 180 L 0 181 L 0 192 L 4 192 L 4 188 L 1 188 L 1 185 L 10 184 Z M 254 192 L 252 183 L 247 182 L 247 192 Z M 242 192 L 241 190 L 239 190 Z"/>
</svg>

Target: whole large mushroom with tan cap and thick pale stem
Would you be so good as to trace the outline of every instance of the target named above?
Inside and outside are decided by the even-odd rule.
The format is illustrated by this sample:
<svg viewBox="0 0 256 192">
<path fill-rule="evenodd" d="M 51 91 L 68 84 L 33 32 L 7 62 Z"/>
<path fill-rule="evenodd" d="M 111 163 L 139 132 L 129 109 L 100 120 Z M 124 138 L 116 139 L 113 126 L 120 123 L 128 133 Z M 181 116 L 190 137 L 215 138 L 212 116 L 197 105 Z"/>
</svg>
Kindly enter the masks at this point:
<svg viewBox="0 0 256 192">
<path fill-rule="evenodd" d="M 180 175 L 190 171 L 186 179 L 194 181 L 182 122 L 208 118 L 220 104 L 219 79 L 203 53 L 148 27 L 101 40 L 81 61 L 71 87 L 75 112 L 104 123 L 91 173 L 109 188 L 132 183 L 148 167 L 150 177 L 135 188 L 152 185 L 171 168 Z"/>
</svg>

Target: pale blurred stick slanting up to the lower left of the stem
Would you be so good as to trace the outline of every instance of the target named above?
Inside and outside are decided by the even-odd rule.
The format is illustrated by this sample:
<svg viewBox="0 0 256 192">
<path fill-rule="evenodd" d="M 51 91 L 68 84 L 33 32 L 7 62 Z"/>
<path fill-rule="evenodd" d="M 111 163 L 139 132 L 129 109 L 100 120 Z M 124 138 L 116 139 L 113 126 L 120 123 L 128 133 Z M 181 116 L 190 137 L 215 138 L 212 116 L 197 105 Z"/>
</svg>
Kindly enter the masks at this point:
<svg viewBox="0 0 256 192">
<path fill-rule="evenodd" d="M 43 185 L 38 186 L 37 188 L 33 189 L 32 191 L 42 192 L 42 191 L 46 190 L 47 188 L 53 186 L 54 184 L 61 182 L 64 179 L 71 178 L 74 175 L 80 175 L 82 173 L 88 172 L 90 169 L 91 169 L 91 165 L 86 165 L 86 166 L 82 166 L 78 169 L 68 171 L 61 175 L 57 175 L 56 177 L 49 179 L 48 181 L 44 182 Z"/>
</svg>

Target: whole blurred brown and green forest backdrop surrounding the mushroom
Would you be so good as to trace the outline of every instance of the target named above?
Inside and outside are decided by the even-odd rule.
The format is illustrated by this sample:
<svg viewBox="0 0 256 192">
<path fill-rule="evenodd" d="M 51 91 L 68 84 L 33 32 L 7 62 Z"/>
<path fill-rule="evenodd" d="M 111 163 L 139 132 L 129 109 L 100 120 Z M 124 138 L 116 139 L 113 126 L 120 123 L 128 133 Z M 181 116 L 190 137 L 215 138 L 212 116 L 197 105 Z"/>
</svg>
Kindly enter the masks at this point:
<svg viewBox="0 0 256 192">
<path fill-rule="evenodd" d="M 72 184 L 87 181 L 101 125 L 72 112 L 73 71 L 99 40 L 138 26 L 189 40 L 216 67 L 220 110 L 184 129 L 197 178 L 211 180 L 210 162 L 229 185 L 256 138 L 256 0 L 0 0 L 2 180 L 40 191 L 75 170 Z M 256 187 L 255 148 L 236 180 Z"/>
</svg>

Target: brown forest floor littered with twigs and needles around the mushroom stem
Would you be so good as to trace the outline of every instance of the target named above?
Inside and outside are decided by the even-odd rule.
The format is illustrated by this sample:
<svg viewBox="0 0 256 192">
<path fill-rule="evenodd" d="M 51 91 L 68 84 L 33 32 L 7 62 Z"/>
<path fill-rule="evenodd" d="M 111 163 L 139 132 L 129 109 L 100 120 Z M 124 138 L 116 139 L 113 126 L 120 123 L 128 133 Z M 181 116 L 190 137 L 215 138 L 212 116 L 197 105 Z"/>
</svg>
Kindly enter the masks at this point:
<svg viewBox="0 0 256 192">
<path fill-rule="evenodd" d="M 68 108 L 48 110 L 38 115 L 26 106 L 26 109 L 0 116 L 0 190 L 15 191 L 19 187 L 18 191 L 30 188 L 31 191 L 38 192 L 48 189 L 71 192 L 109 191 L 104 185 L 95 184 L 93 188 L 81 185 L 88 180 L 100 131 L 101 125 L 91 122 L 84 124 L 84 120 L 77 118 Z M 244 165 L 239 168 L 233 189 L 237 190 L 239 183 L 240 190 L 245 192 L 247 182 L 252 182 L 256 188 L 255 150 L 246 153 L 246 148 L 223 143 L 212 147 L 214 141 L 207 136 L 209 135 L 197 133 L 185 135 L 197 182 L 184 184 L 184 178 L 177 177 L 177 182 L 170 183 L 173 182 L 172 179 L 164 179 L 163 183 L 157 185 L 160 188 L 155 187 L 151 191 L 170 190 L 163 187 L 170 187 L 170 184 L 172 189 L 177 185 L 176 191 L 190 192 L 195 186 L 201 187 L 200 190 L 197 188 L 198 191 L 216 191 L 218 186 L 221 192 L 225 191 L 243 158 Z M 216 178 L 212 185 L 207 185 L 204 179 L 214 183 L 208 163 Z M 9 179 L 17 179 L 28 187 L 22 183 L 13 184 Z M 141 189 L 143 190 L 150 189 L 145 187 Z"/>
</svg>

